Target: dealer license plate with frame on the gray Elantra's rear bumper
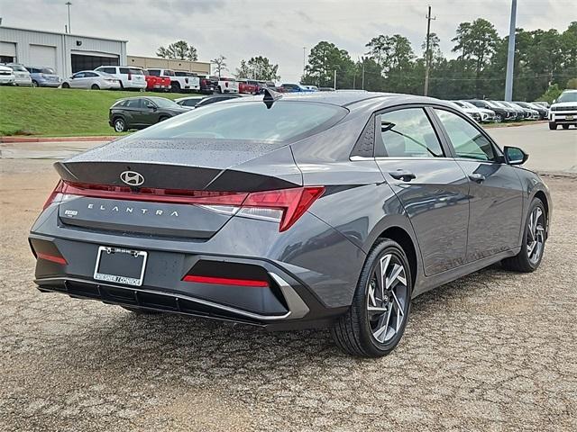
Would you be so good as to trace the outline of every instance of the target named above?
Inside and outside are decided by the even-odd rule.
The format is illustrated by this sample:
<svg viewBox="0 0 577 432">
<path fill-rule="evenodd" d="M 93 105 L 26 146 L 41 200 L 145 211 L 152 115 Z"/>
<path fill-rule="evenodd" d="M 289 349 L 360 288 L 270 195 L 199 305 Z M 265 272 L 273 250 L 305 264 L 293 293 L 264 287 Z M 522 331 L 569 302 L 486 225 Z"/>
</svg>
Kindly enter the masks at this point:
<svg viewBox="0 0 577 432">
<path fill-rule="evenodd" d="M 142 286 L 148 253 L 125 247 L 98 247 L 94 279 L 114 284 Z"/>
</svg>

